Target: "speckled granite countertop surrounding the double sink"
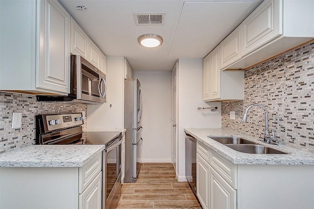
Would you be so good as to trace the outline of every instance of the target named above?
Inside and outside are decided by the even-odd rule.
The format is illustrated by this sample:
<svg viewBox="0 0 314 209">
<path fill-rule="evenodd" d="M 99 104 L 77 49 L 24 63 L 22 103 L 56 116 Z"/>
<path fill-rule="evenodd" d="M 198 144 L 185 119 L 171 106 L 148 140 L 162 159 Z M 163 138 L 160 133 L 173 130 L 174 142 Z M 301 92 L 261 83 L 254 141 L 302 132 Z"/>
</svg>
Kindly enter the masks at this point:
<svg viewBox="0 0 314 209">
<path fill-rule="evenodd" d="M 252 137 L 236 131 L 225 129 L 184 129 L 187 133 L 194 136 L 197 140 L 207 145 L 210 149 L 225 157 L 234 164 L 282 164 L 282 165 L 314 165 L 314 154 L 287 145 L 268 145 L 260 140 L 260 138 Z M 254 141 L 258 144 L 268 146 L 288 154 L 247 154 L 237 152 L 211 138 L 210 136 L 237 136 L 244 139 Z"/>
</svg>

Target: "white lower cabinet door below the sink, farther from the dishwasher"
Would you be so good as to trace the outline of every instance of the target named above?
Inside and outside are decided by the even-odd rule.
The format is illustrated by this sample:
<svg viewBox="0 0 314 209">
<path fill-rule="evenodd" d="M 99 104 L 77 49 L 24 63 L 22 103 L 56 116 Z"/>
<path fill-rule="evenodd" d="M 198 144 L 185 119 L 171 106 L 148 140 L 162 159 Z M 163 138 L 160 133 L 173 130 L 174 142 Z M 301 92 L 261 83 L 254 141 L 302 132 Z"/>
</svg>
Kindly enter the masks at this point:
<svg viewBox="0 0 314 209">
<path fill-rule="evenodd" d="M 209 169 L 210 209 L 236 209 L 236 190 L 212 167 Z"/>
</svg>

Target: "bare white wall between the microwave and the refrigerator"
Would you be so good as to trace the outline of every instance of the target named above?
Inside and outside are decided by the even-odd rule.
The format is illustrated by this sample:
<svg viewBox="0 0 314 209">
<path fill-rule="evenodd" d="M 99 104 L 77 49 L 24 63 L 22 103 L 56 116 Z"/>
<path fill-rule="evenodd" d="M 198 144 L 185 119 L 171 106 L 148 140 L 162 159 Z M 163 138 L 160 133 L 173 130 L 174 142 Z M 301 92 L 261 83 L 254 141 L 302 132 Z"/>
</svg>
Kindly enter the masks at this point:
<svg viewBox="0 0 314 209">
<path fill-rule="evenodd" d="M 121 129 L 124 127 L 123 63 L 123 56 L 107 56 L 107 102 L 87 105 L 87 130 Z"/>
</svg>

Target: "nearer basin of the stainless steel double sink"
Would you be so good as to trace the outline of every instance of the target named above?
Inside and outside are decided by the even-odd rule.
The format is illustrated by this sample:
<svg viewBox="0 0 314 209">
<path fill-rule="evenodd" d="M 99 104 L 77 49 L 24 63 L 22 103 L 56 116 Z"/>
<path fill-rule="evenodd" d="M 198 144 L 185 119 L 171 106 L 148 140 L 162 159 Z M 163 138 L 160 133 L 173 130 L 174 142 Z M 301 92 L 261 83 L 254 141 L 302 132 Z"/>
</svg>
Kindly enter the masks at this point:
<svg viewBox="0 0 314 209">
<path fill-rule="evenodd" d="M 259 144 L 226 144 L 227 147 L 241 152 L 249 154 L 288 154 L 279 150 L 275 150 L 270 147 L 266 147 Z"/>
</svg>

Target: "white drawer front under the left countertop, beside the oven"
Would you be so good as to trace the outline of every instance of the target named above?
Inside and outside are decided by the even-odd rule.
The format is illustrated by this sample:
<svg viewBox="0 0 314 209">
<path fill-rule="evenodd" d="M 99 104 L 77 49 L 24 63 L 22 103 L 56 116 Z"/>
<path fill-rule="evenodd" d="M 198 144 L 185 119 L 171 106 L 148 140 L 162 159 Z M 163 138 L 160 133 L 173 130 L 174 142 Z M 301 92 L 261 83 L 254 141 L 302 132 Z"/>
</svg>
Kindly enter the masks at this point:
<svg viewBox="0 0 314 209">
<path fill-rule="evenodd" d="M 85 188 L 95 179 L 102 170 L 102 153 L 98 154 L 83 167 L 78 169 L 78 192 L 82 193 Z"/>
</svg>

